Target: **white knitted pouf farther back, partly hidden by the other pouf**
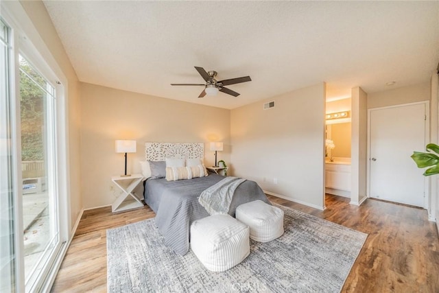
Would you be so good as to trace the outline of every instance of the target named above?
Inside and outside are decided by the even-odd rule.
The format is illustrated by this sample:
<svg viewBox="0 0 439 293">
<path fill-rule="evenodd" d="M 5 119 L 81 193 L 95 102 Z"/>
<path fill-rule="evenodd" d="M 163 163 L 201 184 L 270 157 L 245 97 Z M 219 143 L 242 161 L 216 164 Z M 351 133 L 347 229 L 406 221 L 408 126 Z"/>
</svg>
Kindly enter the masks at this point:
<svg viewBox="0 0 439 293">
<path fill-rule="evenodd" d="M 262 200 L 241 204 L 235 216 L 250 227 L 250 238 L 254 241 L 269 242 L 283 234 L 283 211 Z"/>
</svg>

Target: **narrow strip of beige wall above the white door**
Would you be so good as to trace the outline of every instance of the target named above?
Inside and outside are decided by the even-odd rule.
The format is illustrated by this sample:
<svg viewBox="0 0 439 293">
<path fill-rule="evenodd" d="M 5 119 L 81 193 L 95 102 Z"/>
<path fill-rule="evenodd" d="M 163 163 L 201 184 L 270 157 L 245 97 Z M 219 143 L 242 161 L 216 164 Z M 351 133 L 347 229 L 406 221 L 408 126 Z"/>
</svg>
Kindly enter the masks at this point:
<svg viewBox="0 0 439 293">
<path fill-rule="evenodd" d="M 430 99 L 430 84 L 414 84 L 398 89 L 368 94 L 368 109 L 427 101 Z"/>
</svg>

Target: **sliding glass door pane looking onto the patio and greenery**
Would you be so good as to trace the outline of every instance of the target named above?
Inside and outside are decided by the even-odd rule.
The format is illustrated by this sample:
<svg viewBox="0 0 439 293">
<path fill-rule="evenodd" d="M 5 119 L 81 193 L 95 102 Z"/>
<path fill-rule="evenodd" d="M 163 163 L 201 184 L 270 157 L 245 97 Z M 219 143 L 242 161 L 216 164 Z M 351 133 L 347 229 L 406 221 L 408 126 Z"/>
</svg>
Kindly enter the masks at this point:
<svg viewBox="0 0 439 293">
<path fill-rule="evenodd" d="M 20 69 L 23 247 L 27 287 L 60 246 L 56 188 L 56 91 L 22 55 Z"/>
</svg>

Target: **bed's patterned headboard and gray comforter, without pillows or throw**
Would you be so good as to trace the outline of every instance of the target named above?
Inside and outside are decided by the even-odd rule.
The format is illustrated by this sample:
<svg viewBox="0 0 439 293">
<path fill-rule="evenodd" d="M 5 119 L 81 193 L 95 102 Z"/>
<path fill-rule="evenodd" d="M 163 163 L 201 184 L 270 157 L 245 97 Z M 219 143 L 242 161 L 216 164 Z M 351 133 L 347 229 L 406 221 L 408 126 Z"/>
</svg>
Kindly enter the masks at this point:
<svg viewBox="0 0 439 293">
<path fill-rule="evenodd" d="M 145 143 L 147 161 L 164 161 L 169 158 L 204 159 L 204 143 Z M 180 255 L 189 251 L 189 228 L 195 220 L 209 216 L 198 202 L 198 197 L 223 176 L 209 174 L 189 180 L 167 181 L 165 178 L 148 178 L 144 183 L 145 203 L 156 213 L 156 226 L 165 238 L 165 244 Z M 270 201 L 261 187 L 246 180 L 235 190 L 228 213 L 235 216 L 239 204 L 253 200 Z"/>
</svg>

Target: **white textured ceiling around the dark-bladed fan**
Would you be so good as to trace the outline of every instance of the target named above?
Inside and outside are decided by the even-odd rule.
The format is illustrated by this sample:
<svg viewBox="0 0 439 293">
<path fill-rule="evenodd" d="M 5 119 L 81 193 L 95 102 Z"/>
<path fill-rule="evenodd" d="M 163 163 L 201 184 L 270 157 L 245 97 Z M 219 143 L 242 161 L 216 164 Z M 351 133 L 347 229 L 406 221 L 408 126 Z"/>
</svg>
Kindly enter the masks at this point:
<svg viewBox="0 0 439 293">
<path fill-rule="evenodd" d="M 327 82 L 328 97 L 427 82 L 439 61 L 439 2 L 45 1 L 82 82 L 237 108 Z M 193 68 L 235 98 L 198 95 Z M 123 97 L 121 97 L 123 99 Z"/>
</svg>

